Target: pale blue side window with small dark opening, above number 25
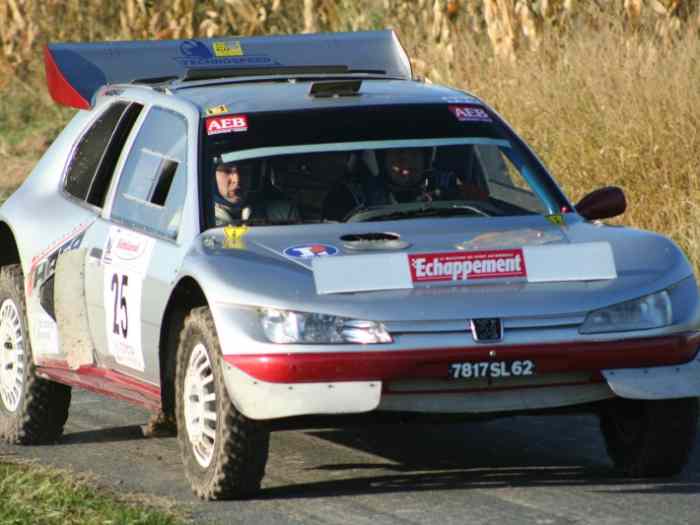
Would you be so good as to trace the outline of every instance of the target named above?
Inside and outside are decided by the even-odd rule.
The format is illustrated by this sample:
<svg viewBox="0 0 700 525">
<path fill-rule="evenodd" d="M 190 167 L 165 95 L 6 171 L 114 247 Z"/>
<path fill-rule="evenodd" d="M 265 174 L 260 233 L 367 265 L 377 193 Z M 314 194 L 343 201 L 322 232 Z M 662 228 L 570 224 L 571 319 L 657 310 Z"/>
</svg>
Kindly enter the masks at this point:
<svg viewBox="0 0 700 525">
<path fill-rule="evenodd" d="M 126 159 L 112 218 L 174 239 L 187 184 L 187 121 L 152 108 Z"/>
</svg>

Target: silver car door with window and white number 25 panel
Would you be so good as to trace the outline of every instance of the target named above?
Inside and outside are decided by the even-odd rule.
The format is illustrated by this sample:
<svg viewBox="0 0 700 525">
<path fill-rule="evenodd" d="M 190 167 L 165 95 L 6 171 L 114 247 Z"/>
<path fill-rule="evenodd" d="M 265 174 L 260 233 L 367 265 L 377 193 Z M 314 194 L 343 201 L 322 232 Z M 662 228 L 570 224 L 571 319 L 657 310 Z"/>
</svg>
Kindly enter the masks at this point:
<svg viewBox="0 0 700 525">
<path fill-rule="evenodd" d="M 100 367 L 158 384 L 160 324 L 186 245 L 188 125 L 152 106 L 123 164 L 111 209 L 93 225 L 85 272 Z"/>
</svg>

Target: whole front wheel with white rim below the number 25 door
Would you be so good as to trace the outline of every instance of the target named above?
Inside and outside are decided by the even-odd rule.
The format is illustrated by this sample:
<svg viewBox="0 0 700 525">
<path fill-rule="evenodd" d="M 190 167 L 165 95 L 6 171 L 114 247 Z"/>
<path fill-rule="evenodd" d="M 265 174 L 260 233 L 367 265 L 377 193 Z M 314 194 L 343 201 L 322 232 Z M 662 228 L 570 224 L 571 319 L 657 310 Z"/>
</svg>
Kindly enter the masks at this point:
<svg viewBox="0 0 700 525">
<path fill-rule="evenodd" d="M 228 396 L 207 307 L 193 309 L 180 333 L 176 419 L 185 475 L 197 496 L 244 498 L 260 489 L 270 434 L 264 424 L 238 412 Z"/>
</svg>

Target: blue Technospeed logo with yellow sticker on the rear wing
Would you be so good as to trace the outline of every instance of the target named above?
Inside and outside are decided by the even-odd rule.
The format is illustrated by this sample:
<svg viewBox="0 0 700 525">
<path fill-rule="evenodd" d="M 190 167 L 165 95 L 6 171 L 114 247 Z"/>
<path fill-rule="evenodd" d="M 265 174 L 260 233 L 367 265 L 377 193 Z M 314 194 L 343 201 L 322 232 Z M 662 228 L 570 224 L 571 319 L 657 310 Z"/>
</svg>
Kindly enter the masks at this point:
<svg viewBox="0 0 700 525">
<path fill-rule="evenodd" d="M 243 56 L 239 41 L 214 42 L 212 49 L 200 40 L 185 40 L 174 60 L 183 67 L 269 66 L 280 65 L 264 55 Z"/>
</svg>

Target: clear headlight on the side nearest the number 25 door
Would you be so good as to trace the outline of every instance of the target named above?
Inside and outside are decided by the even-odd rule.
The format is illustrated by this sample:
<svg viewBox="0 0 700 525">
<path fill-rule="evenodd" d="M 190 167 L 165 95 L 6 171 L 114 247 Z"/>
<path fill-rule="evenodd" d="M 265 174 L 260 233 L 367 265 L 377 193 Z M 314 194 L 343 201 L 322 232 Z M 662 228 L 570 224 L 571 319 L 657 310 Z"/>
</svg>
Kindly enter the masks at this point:
<svg viewBox="0 0 700 525">
<path fill-rule="evenodd" d="M 391 343 L 382 323 L 334 315 L 260 309 L 260 324 L 273 343 Z"/>
</svg>

